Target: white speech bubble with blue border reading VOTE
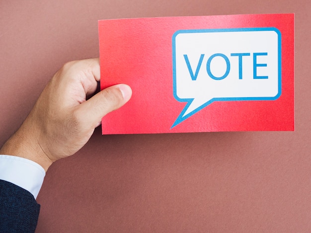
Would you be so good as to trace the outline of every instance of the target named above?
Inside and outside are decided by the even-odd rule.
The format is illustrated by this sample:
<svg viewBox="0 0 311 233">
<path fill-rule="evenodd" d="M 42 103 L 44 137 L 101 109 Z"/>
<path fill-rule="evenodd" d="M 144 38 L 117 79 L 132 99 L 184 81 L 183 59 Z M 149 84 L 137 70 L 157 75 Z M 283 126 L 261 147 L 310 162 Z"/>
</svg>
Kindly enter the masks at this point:
<svg viewBox="0 0 311 233">
<path fill-rule="evenodd" d="M 281 96 L 281 32 L 271 28 L 179 30 L 172 37 L 173 95 L 187 102 L 173 125 L 215 101 Z"/>
</svg>

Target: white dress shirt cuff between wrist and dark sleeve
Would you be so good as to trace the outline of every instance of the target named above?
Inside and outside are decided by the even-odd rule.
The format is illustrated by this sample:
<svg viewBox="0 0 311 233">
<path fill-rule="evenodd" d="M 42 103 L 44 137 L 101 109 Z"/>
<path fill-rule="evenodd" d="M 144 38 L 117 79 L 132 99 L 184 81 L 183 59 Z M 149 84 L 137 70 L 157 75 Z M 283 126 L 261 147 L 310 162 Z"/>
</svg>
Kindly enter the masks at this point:
<svg viewBox="0 0 311 233">
<path fill-rule="evenodd" d="M 0 155 L 0 179 L 29 191 L 37 198 L 45 176 L 37 163 L 11 155 Z"/>
</svg>

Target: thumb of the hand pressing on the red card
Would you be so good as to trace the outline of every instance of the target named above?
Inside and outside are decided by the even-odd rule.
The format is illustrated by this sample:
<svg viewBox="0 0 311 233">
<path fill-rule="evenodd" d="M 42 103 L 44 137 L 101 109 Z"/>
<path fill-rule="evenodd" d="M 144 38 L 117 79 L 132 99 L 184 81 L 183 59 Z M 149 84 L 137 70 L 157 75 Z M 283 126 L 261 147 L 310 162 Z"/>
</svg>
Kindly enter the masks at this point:
<svg viewBox="0 0 311 233">
<path fill-rule="evenodd" d="M 96 127 L 101 118 L 108 113 L 121 108 L 131 99 L 132 89 L 126 84 L 117 84 L 108 87 L 89 100 L 80 104 L 79 112 L 84 120 Z"/>
</svg>

